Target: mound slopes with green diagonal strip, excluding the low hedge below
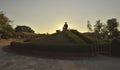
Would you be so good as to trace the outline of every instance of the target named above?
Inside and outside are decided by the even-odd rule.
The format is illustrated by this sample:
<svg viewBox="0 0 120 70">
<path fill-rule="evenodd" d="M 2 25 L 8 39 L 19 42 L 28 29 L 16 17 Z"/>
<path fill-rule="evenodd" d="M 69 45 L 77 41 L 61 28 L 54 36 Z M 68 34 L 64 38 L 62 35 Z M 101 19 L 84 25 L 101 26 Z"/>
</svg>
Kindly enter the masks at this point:
<svg viewBox="0 0 120 70">
<path fill-rule="evenodd" d="M 33 41 L 32 43 L 39 44 L 89 44 L 92 40 L 86 38 L 78 31 L 64 30 L 60 33 L 54 33 L 52 35 L 41 37 L 40 39 Z"/>
</svg>

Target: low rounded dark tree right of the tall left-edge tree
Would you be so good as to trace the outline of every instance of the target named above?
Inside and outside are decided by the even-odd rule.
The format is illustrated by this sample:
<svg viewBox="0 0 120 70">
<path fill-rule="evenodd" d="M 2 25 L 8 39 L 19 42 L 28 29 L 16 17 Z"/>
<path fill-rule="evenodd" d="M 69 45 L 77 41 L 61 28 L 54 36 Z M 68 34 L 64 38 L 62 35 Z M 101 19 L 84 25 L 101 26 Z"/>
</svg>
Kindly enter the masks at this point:
<svg viewBox="0 0 120 70">
<path fill-rule="evenodd" d="M 17 27 L 15 28 L 15 32 L 34 33 L 34 30 L 31 29 L 29 26 L 17 26 Z"/>
</svg>

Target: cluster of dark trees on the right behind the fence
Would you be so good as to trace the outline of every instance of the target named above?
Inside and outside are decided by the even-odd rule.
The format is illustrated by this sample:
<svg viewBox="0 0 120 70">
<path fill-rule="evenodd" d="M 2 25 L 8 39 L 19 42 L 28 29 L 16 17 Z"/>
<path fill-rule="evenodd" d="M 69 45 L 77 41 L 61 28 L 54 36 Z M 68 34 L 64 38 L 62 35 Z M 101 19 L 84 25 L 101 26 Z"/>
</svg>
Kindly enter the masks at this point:
<svg viewBox="0 0 120 70">
<path fill-rule="evenodd" d="M 101 20 L 97 20 L 95 25 L 91 25 L 90 21 L 87 22 L 87 28 L 89 31 L 93 31 L 97 38 L 107 36 L 109 39 L 119 37 L 119 23 L 116 18 L 108 19 L 106 23 L 102 23 Z"/>
</svg>

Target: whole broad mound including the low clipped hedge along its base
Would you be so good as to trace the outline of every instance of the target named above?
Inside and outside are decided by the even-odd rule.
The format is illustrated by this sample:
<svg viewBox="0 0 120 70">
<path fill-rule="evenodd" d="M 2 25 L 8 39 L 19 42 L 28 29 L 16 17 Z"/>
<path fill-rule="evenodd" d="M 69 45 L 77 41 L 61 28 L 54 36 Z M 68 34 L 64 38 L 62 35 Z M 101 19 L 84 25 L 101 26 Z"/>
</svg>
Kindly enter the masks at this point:
<svg viewBox="0 0 120 70">
<path fill-rule="evenodd" d="M 64 30 L 60 33 L 41 37 L 38 40 L 12 42 L 14 48 L 23 48 L 39 51 L 64 51 L 64 52 L 94 52 L 96 46 L 104 46 L 106 42 L 96 40 L 84 35 L 77 30 Z"/>
</svg>

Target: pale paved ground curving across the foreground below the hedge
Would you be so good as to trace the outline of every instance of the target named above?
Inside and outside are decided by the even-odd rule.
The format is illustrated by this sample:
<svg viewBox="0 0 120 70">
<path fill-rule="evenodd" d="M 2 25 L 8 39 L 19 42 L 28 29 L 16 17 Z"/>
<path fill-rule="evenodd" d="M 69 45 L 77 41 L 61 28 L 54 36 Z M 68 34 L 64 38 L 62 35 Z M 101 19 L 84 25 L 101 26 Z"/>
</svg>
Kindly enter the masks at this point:
<svg viewBox="0 0 120 70">
<path fill-rule="evenodd" d="M 43 58 L 8 53 L 11 40 L 0 41 L 0 70 L 120 70 L 120 58 L 95 57 Z"/>
</svg>

